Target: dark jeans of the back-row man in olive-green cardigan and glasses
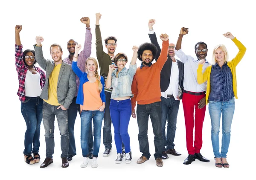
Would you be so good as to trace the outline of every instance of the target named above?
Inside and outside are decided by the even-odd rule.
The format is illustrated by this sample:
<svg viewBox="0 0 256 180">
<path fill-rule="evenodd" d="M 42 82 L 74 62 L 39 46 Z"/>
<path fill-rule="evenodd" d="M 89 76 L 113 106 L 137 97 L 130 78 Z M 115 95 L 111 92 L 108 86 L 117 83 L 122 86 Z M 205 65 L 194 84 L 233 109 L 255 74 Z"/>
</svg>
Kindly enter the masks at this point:
<svg viewBox="0 0 256 180">
<path fill-rule="evenodd" d="M 111 134 L 111 116 L 110 116 L 110 99 L 111 93 L 105 91 L 106 102 L 105 102 L 105 113 L 104 113 L 104 125 L 103 125 L 103 144 L 105 145 L 105 149 L 112 148 L 112 134 Z"/>
</svg>

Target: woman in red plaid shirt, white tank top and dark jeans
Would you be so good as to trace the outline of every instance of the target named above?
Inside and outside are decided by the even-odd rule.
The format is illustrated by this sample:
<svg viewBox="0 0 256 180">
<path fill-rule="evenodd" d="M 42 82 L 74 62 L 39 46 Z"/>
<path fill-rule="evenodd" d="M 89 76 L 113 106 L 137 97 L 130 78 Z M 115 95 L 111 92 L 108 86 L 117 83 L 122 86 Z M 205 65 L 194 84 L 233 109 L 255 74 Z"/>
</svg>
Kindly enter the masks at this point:
<svg viewBox="0 0 256 180">
<path fill-rule="evenodd" d="M 43 100 L 39 96 L 44 87 L 45 73 L 34 65 L 36 63 L 34 50 L 27 49 L 22 52 L 21 29 L 21 25 L 15 26 L 15 64 L 19 79 L 17 95 L 20 97 L 21 113 L 26 122 L 24 159 L 26 163 L 34 164 L 40 161 L 38 151 Z"/>
</svg>

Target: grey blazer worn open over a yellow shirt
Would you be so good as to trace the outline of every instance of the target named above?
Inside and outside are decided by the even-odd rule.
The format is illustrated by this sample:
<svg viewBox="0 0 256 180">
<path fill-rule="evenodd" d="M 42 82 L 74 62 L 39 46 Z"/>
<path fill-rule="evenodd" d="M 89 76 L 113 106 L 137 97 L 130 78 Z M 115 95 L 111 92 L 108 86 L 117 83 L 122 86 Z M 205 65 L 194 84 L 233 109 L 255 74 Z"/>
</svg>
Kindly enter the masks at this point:
<svg viewBox="0 0 256 180">
<path fill-rule="evenodd" d="M 49 84 L 49 75 L 54 69 L 54 61 L 50 59 L 45 59 L 43 56 L 42 46 L 35 46 L 35 59 L 38 64 L 46 72 L 46 82 L 42 93 L 40 95 L 41 99 L 48 99 L 48 84 Z M 58 75 L 57 83 L 57 96 L 58 103 L 63 105 L 65 108 L 69 108 L 71 102 L 73 101 L 74 96 L 76 95 L 76 75 L 73 72 L 71 65 L 64 63 L 62 61 L 60 73 Z"/>
</svg>

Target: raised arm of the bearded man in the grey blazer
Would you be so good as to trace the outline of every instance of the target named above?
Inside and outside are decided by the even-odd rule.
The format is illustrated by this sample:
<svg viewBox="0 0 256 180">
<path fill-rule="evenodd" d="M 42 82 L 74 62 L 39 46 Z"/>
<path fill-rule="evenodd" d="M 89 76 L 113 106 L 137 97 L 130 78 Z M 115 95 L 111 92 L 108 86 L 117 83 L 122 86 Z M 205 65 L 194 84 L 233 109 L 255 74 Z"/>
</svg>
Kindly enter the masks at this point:
<svg viewBox="0 0 256 180">
<path fill-rule="evenodd" d="M 42 36 L 36 36 L 35 41 L 36 41 L 36 44 L 34 45 L 35 59 L 39 64 L 39 66 L 42 67 L 44 70 L 46 70 L 47 61 L 44 58 L 42 44 L 41 44 L 44 41 L 44 38 Z"/>
</svg>

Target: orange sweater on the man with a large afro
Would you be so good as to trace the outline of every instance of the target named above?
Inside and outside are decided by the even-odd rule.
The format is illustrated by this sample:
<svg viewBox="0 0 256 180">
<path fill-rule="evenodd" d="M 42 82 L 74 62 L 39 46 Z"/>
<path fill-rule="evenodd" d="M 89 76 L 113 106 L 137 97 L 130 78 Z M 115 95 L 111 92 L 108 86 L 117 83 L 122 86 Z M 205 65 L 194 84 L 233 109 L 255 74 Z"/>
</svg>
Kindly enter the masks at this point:
<svg viewBox="0 0 256 180">
<path fill-rule="evenodd" d="M 160 72 L 167 60 L 169 40 L 163 41 L 162 50 L 157 62 L 151 67 L 137 68 L 131 84 L 134 97 L 131 98 L 131 110 L 138 105 L 147 105 L 161 101 Z"/>
</svg>

